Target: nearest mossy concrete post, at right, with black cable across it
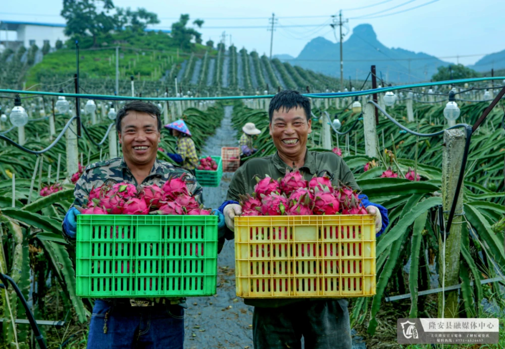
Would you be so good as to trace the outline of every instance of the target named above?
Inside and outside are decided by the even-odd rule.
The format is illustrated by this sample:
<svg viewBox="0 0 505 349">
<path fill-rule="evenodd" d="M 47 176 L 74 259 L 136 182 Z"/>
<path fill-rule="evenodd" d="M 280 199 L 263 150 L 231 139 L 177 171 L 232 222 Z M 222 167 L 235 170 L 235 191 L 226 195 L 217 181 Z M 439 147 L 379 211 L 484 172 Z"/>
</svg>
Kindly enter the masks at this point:
<svg viewBox="0 0 505 349">
<path fill-rule="evenodd" d="M 455 199 L 458 176 L 460 174 L 463 153 L 465 149 L 465 132 L 463 130 L 448 130 L 444 132 L 442 147 L 442 205 L 444 220 L 448 219 L 448 212 Z M 445 240 L 445 275 L 443 275 L 443 242 L 438 238 L 439 251 L 439 279 L 445 276 L 444 287 L 460 283 L 460 245 L 461 245 L 461 222 L 463 217 L 463 190 L 457 198 L 454 219 L 452 220 L 449 236 Z M 438 317 L 442 317 L 442 293 L 438 294 Z M 444 318 L 459 317 L 458 290 L 445 292 Z"/>
</svg>

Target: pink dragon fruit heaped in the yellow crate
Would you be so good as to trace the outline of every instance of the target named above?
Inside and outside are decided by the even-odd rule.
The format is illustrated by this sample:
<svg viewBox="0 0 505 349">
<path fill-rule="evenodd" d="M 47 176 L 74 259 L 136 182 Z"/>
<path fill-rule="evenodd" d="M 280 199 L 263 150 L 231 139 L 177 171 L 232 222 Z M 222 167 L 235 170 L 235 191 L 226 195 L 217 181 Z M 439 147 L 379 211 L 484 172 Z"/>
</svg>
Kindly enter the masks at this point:
<svg viewBox="0 0 505 349">
<path fill-rule="evenodd" d="M 294 169 L 257 181 L 254 194 L 240 197 L 243 216 L 368 214 L 356 190 L 335 187 L 328 177 L 307 181 Z"/>
</svg>

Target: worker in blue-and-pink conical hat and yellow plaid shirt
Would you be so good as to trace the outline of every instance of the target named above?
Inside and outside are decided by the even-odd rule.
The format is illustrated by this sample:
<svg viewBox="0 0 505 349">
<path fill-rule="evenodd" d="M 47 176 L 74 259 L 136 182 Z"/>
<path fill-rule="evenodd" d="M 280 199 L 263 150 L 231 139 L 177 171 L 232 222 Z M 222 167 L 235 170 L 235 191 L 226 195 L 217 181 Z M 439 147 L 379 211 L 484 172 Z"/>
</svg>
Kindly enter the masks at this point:
<svg viewBox="0 0 505 349">
<path fill-rule="evenodd" d="M 182 167 L 189 169 L 194 174 L 194 169 L 198 163 L 196 156 L 196 148 L 191 139 L 191 132 L 189 132 L 186 123 L 179 119 L 171 124 L 165 125 L 169 130 L 172 130 L 172 135 L 177 137 L 177 148 L 174 153 L 167 153 L 167 155 Z"/>
</svg>

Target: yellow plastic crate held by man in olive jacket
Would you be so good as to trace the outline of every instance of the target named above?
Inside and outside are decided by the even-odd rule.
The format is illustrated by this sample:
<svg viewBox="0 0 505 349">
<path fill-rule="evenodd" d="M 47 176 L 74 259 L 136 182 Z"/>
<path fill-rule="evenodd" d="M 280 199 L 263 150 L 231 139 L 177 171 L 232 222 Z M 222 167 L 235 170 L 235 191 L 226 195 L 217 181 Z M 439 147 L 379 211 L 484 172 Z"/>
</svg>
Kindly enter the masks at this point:
<svg viewBox="0 0 505 349">
<path fill-rule="evenodd" d="M 241 298 L 375 295 L 371 215 L 235 217 Z"/>
</svg>

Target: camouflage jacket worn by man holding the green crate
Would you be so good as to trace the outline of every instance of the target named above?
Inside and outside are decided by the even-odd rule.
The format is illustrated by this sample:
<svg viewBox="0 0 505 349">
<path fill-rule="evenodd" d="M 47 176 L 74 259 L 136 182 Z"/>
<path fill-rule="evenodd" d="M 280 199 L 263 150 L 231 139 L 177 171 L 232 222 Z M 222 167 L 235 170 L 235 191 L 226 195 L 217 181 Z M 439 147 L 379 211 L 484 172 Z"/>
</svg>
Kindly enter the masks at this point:
<svg viewBox="0 0 505 349">
<path fill-rule="evenodd" d="M 140 185 L 153 185 L 156 184 L 162 187 L 163 184 L 172 177 L 180 177 L 183 173 L 187 175 L 186 183 L 188 190 L 193 193 L 193 196 L 198 202 L 201 202 L 201 187 L 196 182 L 194 176 L 186 169 L 175 166 L 169 162 L 156 160 L 153 168 L 145 180 Z M 93 188 L 102 186 L 103 184 L 116 184 L 116 183 L 130 183 L 139 186 L 135 177 L 126 165 L 123 158 L 115 158 L 100 162 L 92 163 L 84 169 L 81 178 L 77 181 L 74 189 L 75 200 L 72 204 L 83 206 L 88 202 L 89 192 Z M 63 230 L 63 229 L 62 229 Z M 72 247 L 69 251 L 70 255 L 74 255 L 75 239 L 71 239 L 63 230 L 63 236 Z M 149 299 L 155 301 L 153 299 Z M 166 303 L 169 301 L 171 304 L 185 303 L 185 299 L 157 299 L 156 303 Z"/>
</svg>

